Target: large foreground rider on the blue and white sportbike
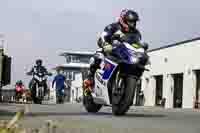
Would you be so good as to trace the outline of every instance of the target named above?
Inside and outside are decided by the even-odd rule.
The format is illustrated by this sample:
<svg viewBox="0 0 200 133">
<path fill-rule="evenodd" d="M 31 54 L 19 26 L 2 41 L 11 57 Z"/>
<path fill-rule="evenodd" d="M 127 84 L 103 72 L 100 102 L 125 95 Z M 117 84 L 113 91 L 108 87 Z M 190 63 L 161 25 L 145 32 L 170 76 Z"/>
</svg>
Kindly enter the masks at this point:
<svg viewBox="0 0 200 133">
<path fill-rule="evenodd" d="M 105 27 L 100 38 L 97 40 L 97 44 L 103 49 L 103 54 L 112 52 L 112 37 L 115 34 L 121 36 L 126 36 L 126 34 L 132 34 L 135 36 L 135 42 L 144 47 L 145 50 L 148 49 L 148 44 L 141 44 L 141 33 L 136 28 L 136 24 L 139 21 L 139 15 L 137 12 L 131 9 L 123 9 L 120 13 L 120 17 L 117 22 L 109 24 Z M 92 86 L 94 83 L 94 74 L 96 70 L 100 67 L 101 57 L 96 51 L 94 57 L 90 62 L 90 70 L 86 80 L 83 82 L 83 87 L 88 88 L 92 91 Z"/>
</svg>

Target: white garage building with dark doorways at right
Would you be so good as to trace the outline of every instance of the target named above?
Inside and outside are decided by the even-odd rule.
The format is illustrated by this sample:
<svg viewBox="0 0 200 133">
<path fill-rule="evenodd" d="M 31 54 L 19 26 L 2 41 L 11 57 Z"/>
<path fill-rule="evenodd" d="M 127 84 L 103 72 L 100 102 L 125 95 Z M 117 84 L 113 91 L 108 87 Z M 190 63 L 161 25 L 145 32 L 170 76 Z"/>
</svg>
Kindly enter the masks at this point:
<svg viewBox="0 0 200 133">
<path fill-rule="evenodd" d="M 153 49 L 148 54 L 150 71 L 142 77 L 144 106 L 158 105 L 163 98 L 166 108 L 194 108 L 200 103 L 200 38 Z"/>
</svg>

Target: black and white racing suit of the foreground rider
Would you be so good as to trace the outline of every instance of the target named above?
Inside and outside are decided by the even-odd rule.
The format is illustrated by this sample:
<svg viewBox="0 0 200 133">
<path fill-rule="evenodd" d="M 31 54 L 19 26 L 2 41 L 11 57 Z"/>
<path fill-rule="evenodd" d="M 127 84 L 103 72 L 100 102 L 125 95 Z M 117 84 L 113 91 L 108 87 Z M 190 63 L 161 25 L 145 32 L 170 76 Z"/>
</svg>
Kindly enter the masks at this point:
<svg viewBox="0 0 200 133">
<path fill-rule="evenodd" d="M 97 44 L 100 48 L 103 48 L 106 43 L 112 45 L 112 36 L 114 34 L 119 34 L 120 36 L 126 36 L 126 34 L 134 34 L 135 42 L 141 41 L 141 34 L 137 29 L 130 30 L 129 32 L 125 32 L 122 29 L 122 26 L 119 22 L 112 23 L 105 27 L 101 37 L 98 39 Z M 96 70 L 100 67 L 101 59 L 99 58 L 98 53 L 95 53 L 93 56 L 93 61 L 90 63 L 90 72 L 88 75 L 88 79 L 94 81 L 94 74 Z"/>
</svg>

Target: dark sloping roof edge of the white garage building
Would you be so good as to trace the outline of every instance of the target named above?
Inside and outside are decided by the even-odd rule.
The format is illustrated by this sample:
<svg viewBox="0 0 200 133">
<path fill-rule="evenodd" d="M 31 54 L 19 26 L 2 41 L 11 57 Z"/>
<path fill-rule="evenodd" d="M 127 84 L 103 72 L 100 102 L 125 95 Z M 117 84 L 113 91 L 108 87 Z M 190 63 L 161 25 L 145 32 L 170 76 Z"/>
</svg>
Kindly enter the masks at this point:
<svg viewBox="0 0 200 133">
<path fill-rule="evenodd" d="M 165 45 L 165 46 L 154 48 L 154 49 L 150 49 L 150 50 L 148 50 L 148 52 L 153 52 L 153 51 L 157 51 L 157 50 L 161 50 L 161 49 L 165 49 L 165 48 L 170 48 L 170 47 L 174 47 L 174 46 L 177 46 L 177 45 L 182 45 L 182 44 L 193 42 L 193 41 L 197 41 L 197 40 L 200 40 L 200 37 L 189 39 L 189 40 L 185 40 L 185 41 L 181 41 L 181 42 L 177 42 L 177 43 L 170 44 L 170 45 Z"/>
</svg>

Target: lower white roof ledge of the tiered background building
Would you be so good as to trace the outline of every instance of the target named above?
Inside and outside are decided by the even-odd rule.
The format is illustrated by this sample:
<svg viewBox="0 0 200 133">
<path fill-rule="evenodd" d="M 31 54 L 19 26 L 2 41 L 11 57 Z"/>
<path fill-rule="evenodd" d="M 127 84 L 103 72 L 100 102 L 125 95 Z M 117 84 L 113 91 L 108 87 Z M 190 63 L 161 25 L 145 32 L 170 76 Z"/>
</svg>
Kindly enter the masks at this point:
<svg viewBox="0 0 200 133">
<path fill-rule="evenodd" d="M 89 64 L 85 64 L 85 63 L 65 63 L 65 64 L 61 64 L 61 65 L 57 65 L 54 69 L 58 69 L 58 68 L 65 68 L 65 69 L 70 69 L 70 68 L 89 68 Z"/>
</svg>

